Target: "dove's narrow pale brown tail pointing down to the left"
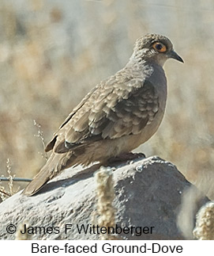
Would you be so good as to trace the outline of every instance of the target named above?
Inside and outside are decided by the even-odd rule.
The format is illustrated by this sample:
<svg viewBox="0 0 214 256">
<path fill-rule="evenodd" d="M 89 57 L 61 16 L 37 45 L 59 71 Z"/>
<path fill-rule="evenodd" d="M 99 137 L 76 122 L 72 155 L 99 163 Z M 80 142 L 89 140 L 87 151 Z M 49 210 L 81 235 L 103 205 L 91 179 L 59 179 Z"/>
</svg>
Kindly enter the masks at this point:
<svg viewBox="0 0 214 256">
<path fill-rule="evenodd" d="M 70 155 L 52 153 L 47 163 L 39 171 L 39 174 L 36 174 L 35 178 L 26 186 L 22 193 L 28 197 L 37 193 L 47 181 L 57 176 L 66 167 L 71 166 L 67 164 L 71 160 Z"/>
</svg>

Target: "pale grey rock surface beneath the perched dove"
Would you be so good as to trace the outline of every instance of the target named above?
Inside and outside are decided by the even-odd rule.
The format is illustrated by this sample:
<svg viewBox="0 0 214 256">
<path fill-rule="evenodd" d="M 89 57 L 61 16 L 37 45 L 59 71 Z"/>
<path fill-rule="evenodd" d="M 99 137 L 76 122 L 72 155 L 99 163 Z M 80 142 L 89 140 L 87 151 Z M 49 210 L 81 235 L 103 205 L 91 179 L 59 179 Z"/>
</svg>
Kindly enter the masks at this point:
<svg viewBox="0 0 214 256">
<path fill-rule="evenodd" d="M 40 231 L 33 230 L 36 234 L 30 235 L 30 239 L 99 239 L 98 234 L 79 234 L 77 229 L 77 225 L 92 227 L 95 223 L 97 198 L 93 174 L 98 169 L 99 165 L 93 165 L 64 170 L 35 196 L 26 197 L 19 192 L 3 201 L 0 239 L 15 239 L 16 234 L 6 231 L 9 224 L 17 229 L 28 224 L 31 233 L 31 227 L 40 227 Z M 190 183 L 173 164 L 158 157 L 137 159 L 117 166 L 113 178 L 116 224 L 133 227 L 133 234 L 123 233 L 118 239 L 183 239 L 176 221 L 182 193 Z M 66 232 L 65 227 L 71 229 Z M 143 227 L 148 234 L 143 233 Z"/>
</svg>

